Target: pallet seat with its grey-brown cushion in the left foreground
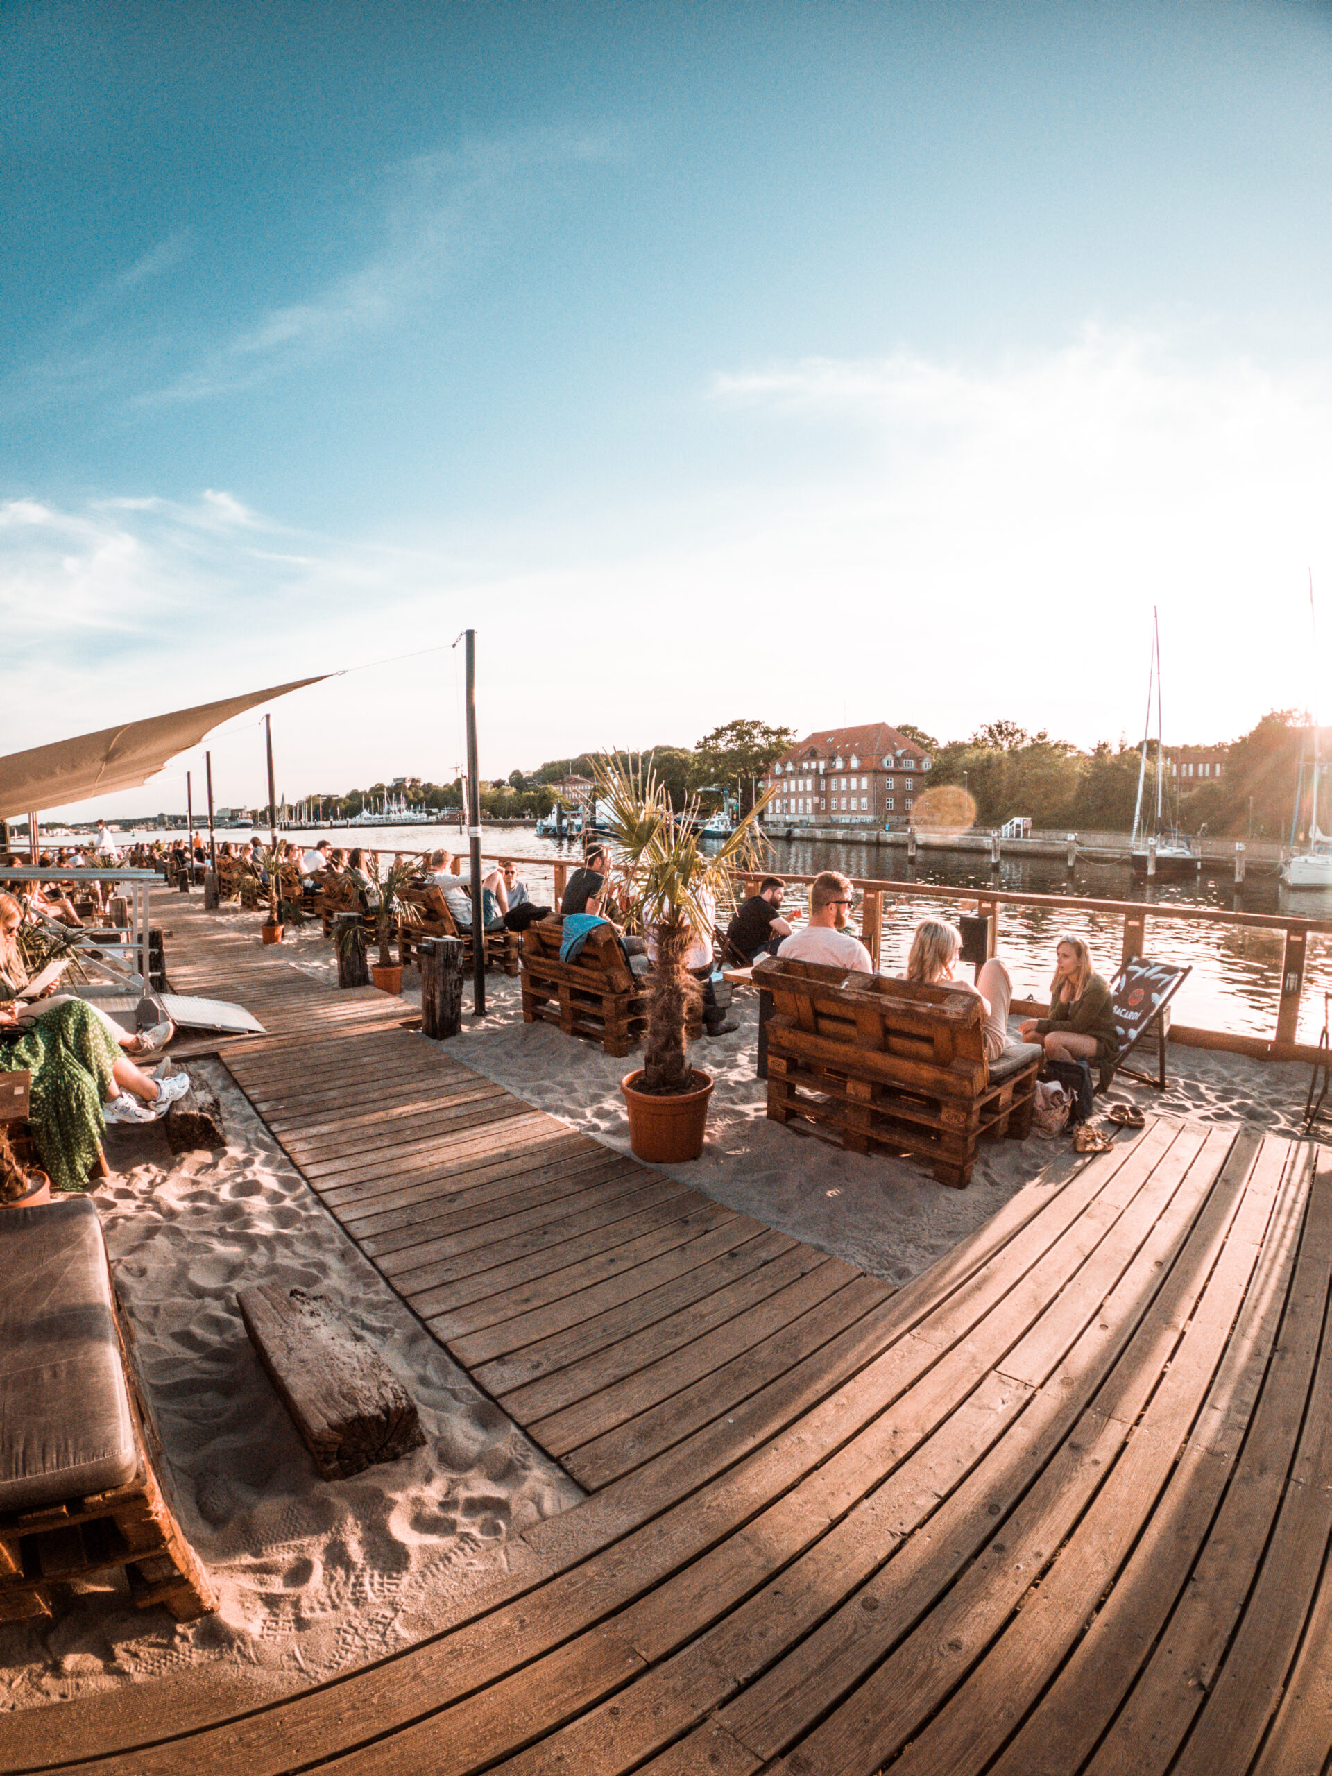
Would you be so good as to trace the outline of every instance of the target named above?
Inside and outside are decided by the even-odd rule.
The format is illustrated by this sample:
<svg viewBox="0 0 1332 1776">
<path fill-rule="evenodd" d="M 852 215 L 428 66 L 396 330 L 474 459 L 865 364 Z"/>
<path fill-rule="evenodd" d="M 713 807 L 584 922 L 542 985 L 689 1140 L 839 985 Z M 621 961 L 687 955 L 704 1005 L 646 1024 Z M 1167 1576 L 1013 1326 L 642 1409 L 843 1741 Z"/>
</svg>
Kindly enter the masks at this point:
<svg viewBox="0 0 1332 1776">
<path fill-rule="evenodd" d="M 52 1588 L 123 1570 L 135 1604 L 178 1621 L 217 1607 L 162 1488 L 87 1197 L 0 1220 L 0 1621 L 46 1616 Z"/>
</svg>

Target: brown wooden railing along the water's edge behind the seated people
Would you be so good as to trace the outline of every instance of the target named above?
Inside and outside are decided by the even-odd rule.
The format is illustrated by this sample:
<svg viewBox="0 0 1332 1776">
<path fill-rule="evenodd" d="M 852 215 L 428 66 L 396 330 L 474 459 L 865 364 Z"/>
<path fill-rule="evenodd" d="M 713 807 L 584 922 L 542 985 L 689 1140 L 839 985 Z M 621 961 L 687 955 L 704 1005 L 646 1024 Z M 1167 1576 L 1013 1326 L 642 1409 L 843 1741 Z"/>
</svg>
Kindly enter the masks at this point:
<svg viewBox="0 0 1332 1776">
<path fill-rule="evenodd" d="M 369 847 L 364 849 L 369 851 Z M 380 849 L 373 854 L 426 858 L 430 852 L 394 852 Z M 510 851 L 481 852 L 481 860 L 485 863 L 499 863 L 501 858 L 511 856 L 513 852 Z M 464 861 L 465 852 L 455 856 L 455 870 L 462 868 Z M 520 863 L 524 868 L 536 867 L 552 870 L 556 906 L 563 899 L 570 868 L 577 868 L 577 861 L 561 861 L 559 858 L 513 858 L 513 861 Z M 742 893 L 755 892 L 765 872 L 757 872 L 753 876 L 737 877 L 737 899 Z M 797 884 L 808 886 L 813 881 L 813 876 L 790 876 L 783 872 L 781 879 L 787 888 L 794 888 Z M 1176 1023 L 1170 1027 L 1170 1041 L 1183 1043 L 1188 1048 L 1227 1050 L 1229 1053 L 1249 1055 L 1256 1060 L 1314 1062 L 1321 1053 L 1312 1043 L 1296 1041 L 1296 1032 L 1300 1028 L 1300 1002 L 1304 998 L 1304 973 L 1309 938 L 1314 934 L 1332 932 L 1332 920 L 1328 918 L 1302 918 L 1291 913 L 1229 913 L 1224 908 L 1179 906 L 1174 902 L 1092 900 L 1085 895 L 1019 893 L 1002 888 L 947 888 L 941 883 L 904 883 L 883 876 L 852 876 L 851 883 L 863 897 L 860 934 L 874 959 L 876 968 L 879 966 L 883 948 L 884 902 L 911 897 L 916 900 L 961 900 L 975 906 L 977 913 L 989 920 L 991 954 L 996 945 L 998 909 L 1002 906 L 1028 906 L 1062 915 L 1066 918 L 1087 913 L 1110 913 L 1122 918 L 1124 934 L 1121 961 L 1124 963 L 1133 955 L 1146 955 L 1149 918 L 1172 920 L 1185 925 L 1247 925 L 1257 931 L 1280 931 L 1284 932 L 1284 947 L 1280 963 L 1280 993 L 1277 1000 L 1277 1028 L 1273 1035 L 1241 1035 L 1233 1030 L 1209 1030 L 1201 1025 Z M 1043 1016 L 1048 1007 L 1037 1000 L 1014 1000 L 1012 1009 L 1023 1016 Z"/>
</svg>

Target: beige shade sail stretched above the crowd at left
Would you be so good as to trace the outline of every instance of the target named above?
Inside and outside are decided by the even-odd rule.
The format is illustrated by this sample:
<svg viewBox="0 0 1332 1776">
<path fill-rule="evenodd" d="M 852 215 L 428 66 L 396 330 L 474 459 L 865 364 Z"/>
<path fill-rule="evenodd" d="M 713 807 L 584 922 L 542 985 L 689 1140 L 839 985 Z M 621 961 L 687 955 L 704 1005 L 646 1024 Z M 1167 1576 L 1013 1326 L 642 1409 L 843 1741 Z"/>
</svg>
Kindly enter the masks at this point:
<svg viewBox="0 0 1332 1776">
<path fill-rule="evenodd" d="M 275 684 L 266 691 L 224 696 L 218 703 L 176 709 L 169 716 L 126 721 L 119 728 L 32 746 L 27 753 L 9 753 L 0 758 L 0 819 L 64 808 L 71 801 L 108 796 L 115 789 L 137 789 L 176 753 L 197 746 L 218 723 L 327 677 L 330 675 L 318 673 L 314 678 L 293 678 L 291 684 Z"/>
</svg>

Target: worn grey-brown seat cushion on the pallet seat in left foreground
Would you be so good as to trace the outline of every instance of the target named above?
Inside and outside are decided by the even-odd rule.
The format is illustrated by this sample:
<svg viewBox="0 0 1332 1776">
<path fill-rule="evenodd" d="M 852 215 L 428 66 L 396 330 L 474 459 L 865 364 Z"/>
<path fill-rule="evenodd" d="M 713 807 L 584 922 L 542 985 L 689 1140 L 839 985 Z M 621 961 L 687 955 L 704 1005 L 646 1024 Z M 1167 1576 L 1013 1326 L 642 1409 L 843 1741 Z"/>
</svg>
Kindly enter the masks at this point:
<svg viewBox="0 0 1332 1776">
<path fill-rule="evenodd" d="M 0 1209 L 0 1511 L 139 1469 L 107 1247 L 87 1197 Z"/>
</svg>

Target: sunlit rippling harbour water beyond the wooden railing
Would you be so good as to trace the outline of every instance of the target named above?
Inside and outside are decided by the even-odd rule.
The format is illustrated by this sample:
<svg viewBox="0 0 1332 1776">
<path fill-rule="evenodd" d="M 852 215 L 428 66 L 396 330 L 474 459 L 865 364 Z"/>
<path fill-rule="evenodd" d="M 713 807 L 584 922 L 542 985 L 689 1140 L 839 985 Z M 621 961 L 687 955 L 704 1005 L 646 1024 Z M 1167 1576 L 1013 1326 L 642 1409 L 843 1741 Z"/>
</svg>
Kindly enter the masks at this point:
<svg viewBox="0 0 1332 1776">
<path fill-rule="evenodd" d="M 162 835 L 170 836 L 170 835 Z M 240 833 L 227 833 L 240 838 Z M 249 836 L 243 835 L 243 836 Z M 304 845 L 329 838 L 334 845 L 366 845 L 377 851 L 430 851 L 446 847 L 465 851 L 465 836 L 456 826 L 362 826 L 330 828 L 318 833 L 293 833 Z M 551 867 L 581 856 L 581 845 L 554 838 L 538 838 L 531 828 L 487 828 L 481 840 L 490 856 L 511 856 L 533 865 L 524 874 L 533 899 L 549 899 L 554 890 Z M 1204 867 L 1201 879 L 1190 883 L 1133 884 L 1128 863 L 1080 861 L 1066 870 L 1057 858 L 1005 858 L 998 870 L 975 852 L 922 851 L 909 865 L 900 847 L 877 849 L 870 845 L 842 845 L 831 840 L 773 840 L 773 870 L 778 876 L 813 876 L 819 870 L 842 870 L 854 877 L 892 877 L 913 886 L 938 883 L 947 888 L 1000 888 L 1011 893 L 1050 893 L 1092 900 L 1142 900 L 1156 906 L 1213 906 L 1236 913 L 1289 913 L 1304 918 L 1332 920 L 1332 890 L 1291 893 L 1279 886 L 1275 876 L 1250 874 L 1243 888 L 1236 888 L 1225 868 Z M 796 888 L 792 899 L 803 893 Z M 899 973 L 906 966 L 911 931 L 925 913 L 952 918 L 954 902 L 929 895 L 884 897 L 881 940 L 881 966 L 884 973 Z M 1048 998 L 1050 975 L 1055 968 L 1055 941 L 1071 931 L 1090 947 L 1098 970 L 1106 979 L 1119 966 L 1122 943 L 1122 916 L 1117 913 L 1048 911 L 1030 906 L 1000 908 L 998 950 L 1012 971 L 1014 993 L 1019 998 Z M 1277 1028 L 1277 1000 L 1280 995 L 1280 959 L 1284 932 L 1247 925 L 1192 925 L 1147 922 L 1147 950 L 1172 963 L 1188 963 L 1192 973 L 1176 998 L 1179 1023 L 1202 1025 L 1211 1030 L 1233 1030 L 1245 1035 L 1270 1037 Z M 1304 1002 L 1300 1005 L 1300 1041 L 1316 1043 L 1323 1028 L 1323 995 L 1332 993 L 1332 934 L 1314 934 L 1309 940 L 1305 963 Z"/>
</svg>

